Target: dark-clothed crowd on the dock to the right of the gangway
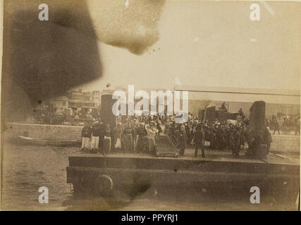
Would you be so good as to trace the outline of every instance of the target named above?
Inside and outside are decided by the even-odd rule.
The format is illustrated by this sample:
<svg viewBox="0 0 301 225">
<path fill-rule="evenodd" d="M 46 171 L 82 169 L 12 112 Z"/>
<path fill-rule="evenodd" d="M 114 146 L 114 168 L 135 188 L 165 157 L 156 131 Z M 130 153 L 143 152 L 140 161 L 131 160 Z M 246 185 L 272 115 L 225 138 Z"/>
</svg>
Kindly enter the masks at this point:
<svg viewBox="0 0 301 225">
<path fill-rule="evenodd" d="M 168 124 L 166 131 L 180 149 L 180 155 L 184 155 L 185 148 L 190 146 L 195 147 L 195 157 L 199 149 L 202 150 L 202 157 L 206 157 L 207 148 L 231 150 L 235 158 L 239 156 L 240 150 L 247 149 L 247 155 L 256 158 L 260 145 L 266 145 L 266 153 L 269 153 L 271 147 L 269 127 L 265 127 L 263 132 L 254 131 L 244 117 L 228 122 L 192 119 L 185 124 Z"/>
</svg>

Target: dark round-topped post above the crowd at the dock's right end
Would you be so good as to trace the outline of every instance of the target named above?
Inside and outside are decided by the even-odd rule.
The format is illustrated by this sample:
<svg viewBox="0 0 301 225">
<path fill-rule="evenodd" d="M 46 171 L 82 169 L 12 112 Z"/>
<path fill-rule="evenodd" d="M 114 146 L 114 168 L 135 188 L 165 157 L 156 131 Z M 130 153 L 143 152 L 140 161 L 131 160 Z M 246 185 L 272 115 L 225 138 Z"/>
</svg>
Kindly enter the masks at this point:
<svg viewBox="0 0 301 225">
<path fill-rule="evenodd" d="M 250 127 L 255 131 L 264 131 L 264 122 L 266 118 L 266 103 L 264 101 L 255 101 L 250 108 Z"/>
</svg>

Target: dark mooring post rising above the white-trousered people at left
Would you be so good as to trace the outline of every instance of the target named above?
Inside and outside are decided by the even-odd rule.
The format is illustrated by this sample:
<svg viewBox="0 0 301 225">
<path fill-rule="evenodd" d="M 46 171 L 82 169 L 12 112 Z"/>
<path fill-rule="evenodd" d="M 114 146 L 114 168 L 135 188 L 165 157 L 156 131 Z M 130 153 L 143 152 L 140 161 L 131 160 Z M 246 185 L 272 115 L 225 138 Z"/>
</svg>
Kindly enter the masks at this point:
<svg viewBox="0 0 301 225">
<path fill-rule="evenodd" d="M 112 99 L 111 94 L 102 95 L 100 117 L 104 124 L 110 124 L 111 129 L 116 127 L 116 116 L 112 113 L 112 107 L 116 100 Z"/>
</svg>

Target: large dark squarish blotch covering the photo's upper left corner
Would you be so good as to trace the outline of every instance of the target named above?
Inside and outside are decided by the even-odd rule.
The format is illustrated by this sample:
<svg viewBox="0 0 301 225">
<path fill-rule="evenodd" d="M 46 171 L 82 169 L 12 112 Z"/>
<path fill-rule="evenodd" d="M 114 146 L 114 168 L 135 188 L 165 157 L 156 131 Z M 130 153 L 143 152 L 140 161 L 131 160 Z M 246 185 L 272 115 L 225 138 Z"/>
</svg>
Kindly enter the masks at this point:
<svg viewBox="0 0 301 225">
<path fill-rule="evenodd" d="M 4 1 L 2 120 L 25 122 L 34 108 L 101 77 L 99 49 L 86 1 Z"/>
</svg>

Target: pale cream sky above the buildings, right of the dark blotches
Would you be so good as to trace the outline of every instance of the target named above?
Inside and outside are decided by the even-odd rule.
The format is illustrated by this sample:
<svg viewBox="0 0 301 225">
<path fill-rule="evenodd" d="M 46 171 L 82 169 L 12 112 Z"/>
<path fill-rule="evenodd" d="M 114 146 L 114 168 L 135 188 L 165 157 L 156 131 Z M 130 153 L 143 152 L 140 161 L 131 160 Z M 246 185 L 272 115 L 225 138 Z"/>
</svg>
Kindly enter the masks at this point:
<svg viewBox="0 0 301 225">
<path fill-rule="evenodd" d="M 251 21 L 252 3 L 167 0 L 155 44 L 137 55 L 99 41 L 103 75 L 75 89 L 173 89 L 176 82 L 300 90 L 300 3 L 258 2 L 260 20 Z"/>
</svg>

